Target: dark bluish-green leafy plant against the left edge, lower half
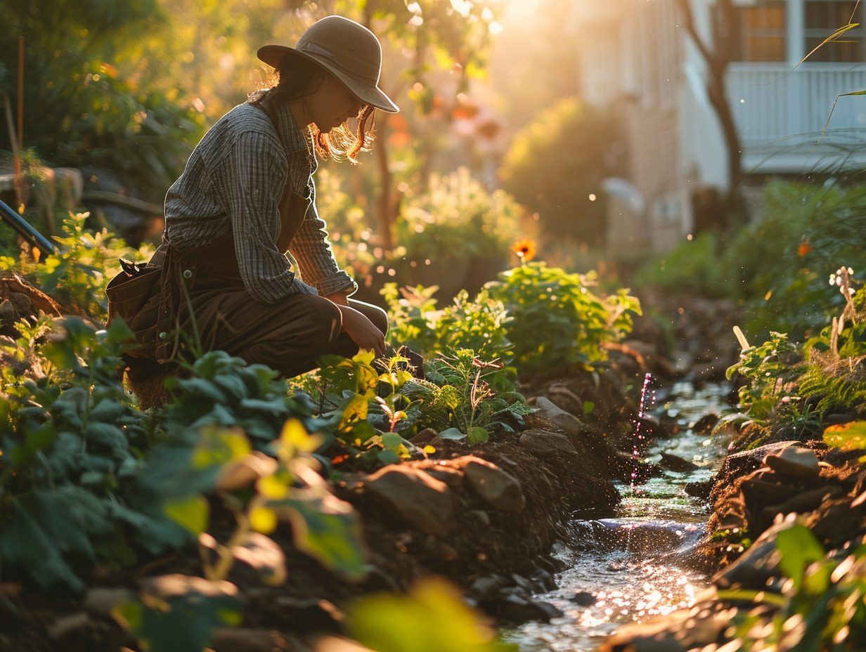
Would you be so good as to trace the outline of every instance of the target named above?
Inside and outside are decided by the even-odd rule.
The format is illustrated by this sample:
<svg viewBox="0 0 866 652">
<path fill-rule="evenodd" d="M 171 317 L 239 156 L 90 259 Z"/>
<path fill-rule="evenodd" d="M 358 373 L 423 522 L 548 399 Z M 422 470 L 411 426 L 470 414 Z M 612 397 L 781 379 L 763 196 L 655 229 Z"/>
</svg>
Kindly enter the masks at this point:
<svg viewBox="0 0 866 652">
<path fill-rule="evenodd" d="M 30 355 L 42 357 L 26 369 L 36 378 L 3 371 L 0 558 L 4 571 L 78 590 L 76 564 L 128 558 L 124 529 L 149 520 L 120 499 L 141 471 L 149 427 L 116 378 L 126 326 L 112 325 L 101 341 L 77 319 L 37 328 L 50 339 L 21 326 L 39 349 Z"/>
</svg>

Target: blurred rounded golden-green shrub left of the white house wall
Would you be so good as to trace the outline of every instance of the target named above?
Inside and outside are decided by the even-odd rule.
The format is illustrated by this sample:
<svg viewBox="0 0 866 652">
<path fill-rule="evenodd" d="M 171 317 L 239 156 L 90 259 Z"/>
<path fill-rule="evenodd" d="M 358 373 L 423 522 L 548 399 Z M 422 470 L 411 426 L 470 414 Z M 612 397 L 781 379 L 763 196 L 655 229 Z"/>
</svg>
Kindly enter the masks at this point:
<svg viewBox="0 0 866 652">
<path fill-rule="evenodd" d="M 520 131 L 499 171 L 502 187 L 540 214 L 542 238 L 598 243 L 604 239 L 600 182 L 618 176 L 625 147 L 617 120 L 565 98 Z"/>
</svg>

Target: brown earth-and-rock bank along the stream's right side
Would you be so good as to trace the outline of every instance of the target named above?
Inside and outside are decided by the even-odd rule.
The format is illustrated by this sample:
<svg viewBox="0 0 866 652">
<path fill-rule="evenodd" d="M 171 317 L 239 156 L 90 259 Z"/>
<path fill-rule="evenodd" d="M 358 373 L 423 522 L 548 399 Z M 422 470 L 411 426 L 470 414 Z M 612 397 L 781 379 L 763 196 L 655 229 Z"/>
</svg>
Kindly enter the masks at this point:
<svg viewBox="0 0 866 652">
<path fill-rule="evenodd" d="M 647 623 L 626 626 L 605 642 L 604 652 L 656 652 L 725 648 L 734 620 L 769 623 L 779 608 L 737 591 L 782 593 L 780 533 L 806 526 L 828 557 L 850 555 L 863 545 L 866 468 L 862 451 L 828 450 L 822 442 L 772 442 L 729 455 L 714 479 L 710 533 L 701 544 L 713 585 L 692 607 Z M 738 537 L 753 539 L 738 545 Z M 727 591 L 720 596 L 718 591 Z M 727 648 L 725 648 L 727 649 Z M 737 648 L 739 649 L 739 648 Z"/>
</svg>

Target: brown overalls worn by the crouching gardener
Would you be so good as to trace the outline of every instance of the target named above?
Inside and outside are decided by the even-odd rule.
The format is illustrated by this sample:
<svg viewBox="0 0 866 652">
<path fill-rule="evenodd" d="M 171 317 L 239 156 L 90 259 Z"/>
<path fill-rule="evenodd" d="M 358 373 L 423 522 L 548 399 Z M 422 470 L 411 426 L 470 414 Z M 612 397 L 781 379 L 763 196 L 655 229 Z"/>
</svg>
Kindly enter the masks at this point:
<svg viewBox="0 0 866 652">
<path fill-rule="evenodd" d="M 288 250 L 309 205 L 287 183 L 280 201 L 280 251 Z M 191 249 L 172 246 L 164 237 L 148 266 L 162 267 L 160 290 L 130 320 L 142 345 L 132 356 L 165 363 L 184 350 L 220 350 L 292 378 L 314 369 L 326 353 L 351 358 L 359 350 L 342 332 L 339 308 L 324 297 L 293 294 L 272 304 L 253 299 L 244 287 L 230 233 Z M 349 305 L 387 331 L 388 317 L 381 308 L 351 299 Z"/>
</svg>

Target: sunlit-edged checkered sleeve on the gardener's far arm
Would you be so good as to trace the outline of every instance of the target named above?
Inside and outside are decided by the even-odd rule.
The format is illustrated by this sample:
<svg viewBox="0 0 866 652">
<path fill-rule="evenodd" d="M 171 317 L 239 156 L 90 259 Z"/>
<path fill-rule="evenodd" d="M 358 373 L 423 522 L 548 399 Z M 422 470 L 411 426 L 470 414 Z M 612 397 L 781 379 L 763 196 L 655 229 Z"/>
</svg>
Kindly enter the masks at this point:
<svg viewBox="0 0 866 652">
<path fill-rule="evenodd" d="M 312 203 L 307 210 L 307 218 L 295 234 L 289 251 L 298 261 L 301 278 L 316 287 L 322 296 L 337 292 L 354 294 L 358 285 L 346 271 L 339 268 L 333 257 L 333 249 L 328 241 L 325 220 L 316 209 L 316 193 L 313 179 L 309 181 Z"/>
</svg>

